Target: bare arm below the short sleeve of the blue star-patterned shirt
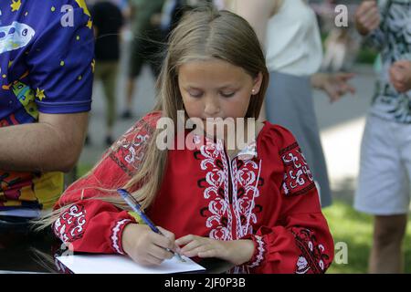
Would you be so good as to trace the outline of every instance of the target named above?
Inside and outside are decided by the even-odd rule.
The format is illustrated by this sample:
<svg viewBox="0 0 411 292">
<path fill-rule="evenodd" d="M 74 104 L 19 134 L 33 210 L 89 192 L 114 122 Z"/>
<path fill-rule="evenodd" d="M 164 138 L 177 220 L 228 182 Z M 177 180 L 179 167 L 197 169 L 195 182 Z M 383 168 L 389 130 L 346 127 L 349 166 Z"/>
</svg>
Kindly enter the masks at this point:
<svg viewBox="0 0 411 292">
<path fill-rule="evenodd" d="M 79 159 L 88 113 L 39 114 L 37 123 L 0 128 L 0 169 L 69 172 Z"/>
</svg>

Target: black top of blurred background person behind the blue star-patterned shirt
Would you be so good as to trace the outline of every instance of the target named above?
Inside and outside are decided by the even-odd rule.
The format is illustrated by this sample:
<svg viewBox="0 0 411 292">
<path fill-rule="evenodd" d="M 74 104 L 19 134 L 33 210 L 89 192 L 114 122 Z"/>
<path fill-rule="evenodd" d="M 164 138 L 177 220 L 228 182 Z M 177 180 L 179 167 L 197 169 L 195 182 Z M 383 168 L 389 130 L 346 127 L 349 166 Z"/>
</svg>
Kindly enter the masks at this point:
<svg viewBox="0 0 411 292">
<path fill-rule="evenodd" d="M 97 28 L 96 59 L 115 61 L 120 58 L 121 10 L 109 1 L 98 2 L 90 9 L 93 26 Z"/>
</svg>

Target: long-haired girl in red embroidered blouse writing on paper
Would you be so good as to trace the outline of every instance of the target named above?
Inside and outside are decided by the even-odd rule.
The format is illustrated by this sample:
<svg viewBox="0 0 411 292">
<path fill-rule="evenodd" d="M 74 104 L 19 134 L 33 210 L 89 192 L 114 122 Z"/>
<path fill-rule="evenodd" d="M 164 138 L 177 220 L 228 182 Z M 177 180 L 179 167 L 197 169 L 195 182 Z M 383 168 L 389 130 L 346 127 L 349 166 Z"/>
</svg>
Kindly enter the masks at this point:
<svg viewBox="0 0 411 292">
<path fill-rule="evenodd" d="M 193 150 L 160 151 L 156 144 L 157 120 L 176 125 L 177 110 L 201 120 L 257 118 L 268 83 L 247 21 L 211 8 L 187 14 L 170 36 L 156 111 L 63 193 L 48 224 L 74 251 L 126 254 L 145 265 L 172 257 L 170 248 L 227 260 L 235 272 L 325 272 L 332 235 L 290 131 L 265 122 L 256 126 L 257 139 L 237 151 L 208 137 L 207 127 Z M 141 224 L 118 188 L 129 190 L 166 236 Z"/>
</svg>

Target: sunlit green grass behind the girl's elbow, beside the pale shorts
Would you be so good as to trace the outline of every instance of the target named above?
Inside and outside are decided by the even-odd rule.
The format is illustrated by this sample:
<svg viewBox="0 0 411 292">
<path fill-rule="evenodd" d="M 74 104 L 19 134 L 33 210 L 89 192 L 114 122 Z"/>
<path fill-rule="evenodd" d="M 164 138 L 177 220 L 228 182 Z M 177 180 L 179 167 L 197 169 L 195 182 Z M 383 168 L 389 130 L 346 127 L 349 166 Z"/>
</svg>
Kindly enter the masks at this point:
<svg viewBox="0 0 411 292">
<path fill-rule="evenodd" d="M 368 256 L 373 240 L 373 217 L 360 214 L 347 203 L 334 202 L 323 210 L 332 231 L 334 243 L 346 243 L 348 263 L 334 263 L 328 273 L 367 273 Z M 411 220 L 408 220 L 404 250 L 406 273 L 411 273 Z M 341 249 L 339 249 L 341 250 Z M 336 255 L 339 252 L 335 250 Z"/>
</svg>

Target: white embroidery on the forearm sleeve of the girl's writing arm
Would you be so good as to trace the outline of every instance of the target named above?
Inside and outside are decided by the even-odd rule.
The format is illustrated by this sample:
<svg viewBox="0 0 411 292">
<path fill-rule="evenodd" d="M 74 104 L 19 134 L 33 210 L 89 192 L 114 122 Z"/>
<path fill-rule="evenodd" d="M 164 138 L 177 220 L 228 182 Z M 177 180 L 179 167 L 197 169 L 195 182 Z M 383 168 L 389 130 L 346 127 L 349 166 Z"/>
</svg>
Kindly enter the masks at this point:
<svg viewBox="0 0 411 292">
<path fill-rule="evenodd" d="M 83 205 L 75 204 L 58 217 L 54 223 L 54 233 L 61 241 L 73 242 L 82 237 L 86 224 L 86 210 Z"/>
</svg>

